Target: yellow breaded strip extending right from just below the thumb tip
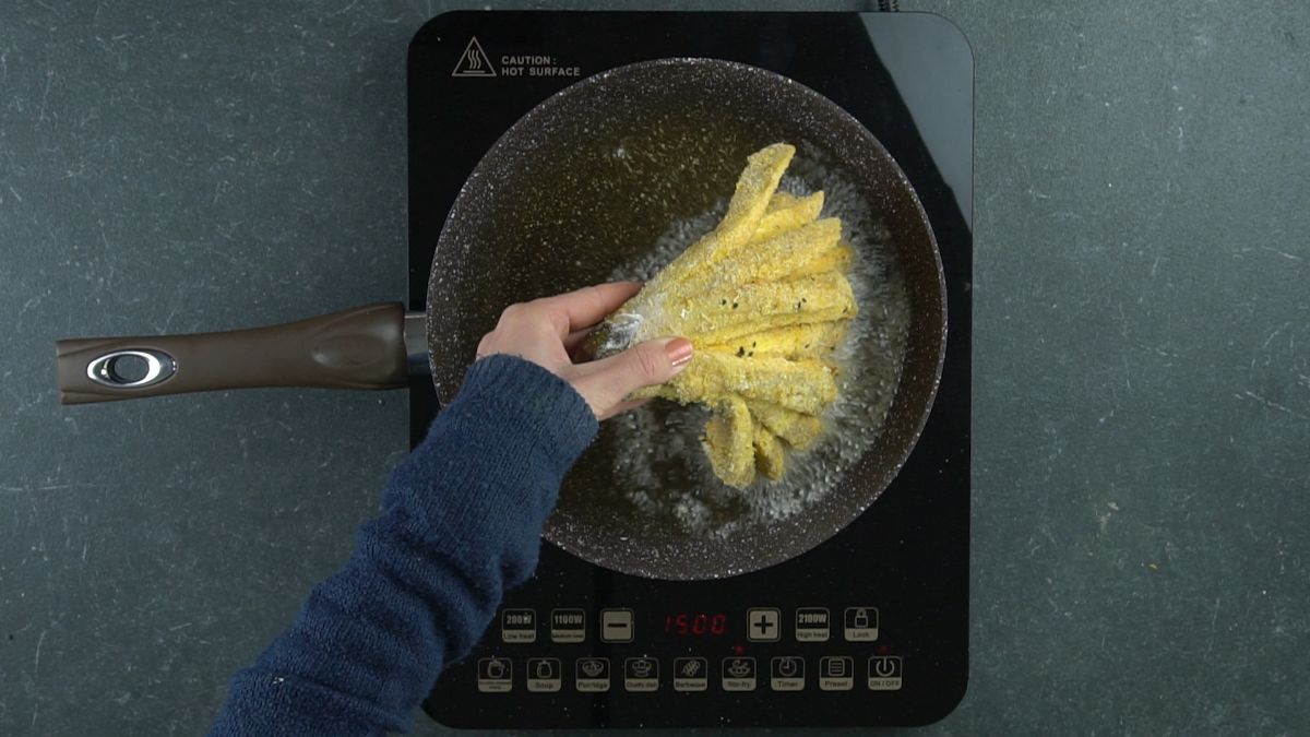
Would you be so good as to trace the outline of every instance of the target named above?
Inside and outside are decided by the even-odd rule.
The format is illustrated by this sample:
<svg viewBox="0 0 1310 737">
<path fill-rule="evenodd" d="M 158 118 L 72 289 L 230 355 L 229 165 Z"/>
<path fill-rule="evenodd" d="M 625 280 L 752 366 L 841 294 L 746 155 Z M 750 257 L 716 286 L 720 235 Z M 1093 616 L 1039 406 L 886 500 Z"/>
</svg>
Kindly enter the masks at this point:
<svg viewBox="0 0 1310 737">
<path fill-rule="evenodd" d="M 727 354 L 700 351 L 672 380 L 639 389 L 633 396 L 713 405 L 727 395 L 768 401 L 804 414 L 820 414 L 837 399 L 837 380 L 832 367 L 817 361 L 741 361 Z"/>
</svg>

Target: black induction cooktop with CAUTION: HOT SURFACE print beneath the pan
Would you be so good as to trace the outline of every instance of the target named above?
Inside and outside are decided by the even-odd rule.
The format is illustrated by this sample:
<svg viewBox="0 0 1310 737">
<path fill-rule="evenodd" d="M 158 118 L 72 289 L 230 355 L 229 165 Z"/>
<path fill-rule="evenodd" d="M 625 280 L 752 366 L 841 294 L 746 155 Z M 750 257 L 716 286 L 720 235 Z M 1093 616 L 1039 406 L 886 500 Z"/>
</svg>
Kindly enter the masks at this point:
<svg viewBox="0 0 1310 737">
<path fill-rule="evenodd" d="M 714 581 L 608 570 L 542 543 L 473 653 L 423 704 L 457 728 L 918 725 L 968 678 L 973 59 L 925 13 L 461 10 L 409 51 L 409 307 L 496 138 L 582 77 L 671 56 L 772 70 L 858 118 L 913 184 L 947 286 L 942 380 L 897 477 L 845 530 Z M 439 409 L 410 387 L 411 441 Z"/>
</svg>

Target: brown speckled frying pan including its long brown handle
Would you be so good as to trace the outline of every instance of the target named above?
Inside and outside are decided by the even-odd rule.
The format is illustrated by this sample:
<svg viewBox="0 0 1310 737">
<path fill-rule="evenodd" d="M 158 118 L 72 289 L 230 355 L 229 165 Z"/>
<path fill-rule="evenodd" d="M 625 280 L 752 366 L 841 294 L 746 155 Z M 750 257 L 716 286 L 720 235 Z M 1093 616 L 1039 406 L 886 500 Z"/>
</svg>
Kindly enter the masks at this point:
<svg viewBox="0 0 1310 737">
<path fill-rule="evenodd" d="M 651 523 L 617 493 L 622 481 L 607 455 L 624 448 L 605 443 L 603 430 L 561 490 L 545 536 L 584 560 L 652 578 L 715 578 L 782 563 L 863 513 L 909 455 L 941 376 L 946 291 L 924 209 L 883 146 L 817 92 L 745 64 L 630 64 L 524 115 L 451 209 L 426 316 L 400 303 L 369 304 L 231 333 L 59 341 L 62 401 L 255 386 L 396 388 L 426 368 L 448 403 L 504 307 L 607 281 L 616 265 L 648 252 L 671 222 L 722 202 L 747 155 L 779 140 L 824 159 L 871 205 L 891 249 L 882 258 L 903 278 L 909 324 L 876 439 L 802 513 L 735 535 L 697 536 Z M 130 361 L 135 375 L 123 368 Z"/>
</svg>

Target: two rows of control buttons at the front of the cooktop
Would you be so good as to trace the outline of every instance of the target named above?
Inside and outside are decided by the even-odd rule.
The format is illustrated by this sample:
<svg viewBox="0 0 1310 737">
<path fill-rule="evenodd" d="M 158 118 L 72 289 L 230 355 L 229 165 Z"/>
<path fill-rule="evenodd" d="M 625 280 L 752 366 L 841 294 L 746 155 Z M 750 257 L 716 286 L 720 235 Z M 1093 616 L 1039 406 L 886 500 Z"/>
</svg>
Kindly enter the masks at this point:
<svg viewBox="0 0 1310 737">
<path fill-rule="evenodd" d="M 483 640 L 474 683 L 483 694 L 899 691 L 905 658 L 878 644 L 880 622 L 869 605 L 679 611 L 651 623 L 624 607 L 593 616 L 504 608 Z M 692 644 L 648 645 L 656 637 Z M 747 644 L 724 647 L 735 641 Z"/>
</svg>

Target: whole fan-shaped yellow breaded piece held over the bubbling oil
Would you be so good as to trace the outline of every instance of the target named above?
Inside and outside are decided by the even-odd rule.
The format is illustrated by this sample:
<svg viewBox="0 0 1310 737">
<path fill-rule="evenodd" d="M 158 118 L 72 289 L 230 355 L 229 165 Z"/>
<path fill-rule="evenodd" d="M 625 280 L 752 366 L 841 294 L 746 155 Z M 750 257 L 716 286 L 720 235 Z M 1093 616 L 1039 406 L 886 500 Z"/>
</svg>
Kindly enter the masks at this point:
<svg viewBox="0 0 1310 737">
<path fill-rule="evenodd" d="M 857 313 L 844 275 L 855 253 L 838 220 L 817 220 L 823 193 L 777 191 L 794 153 L 787 144 L 752 153 L 718 227 L 624 304 L 622 320 L 607 321 L 617 333 L 603 328 L 593 342 L 612 353 L 662 336 L 692 340 L 690 365 L 634 397 L 709 404 L 705 452 L 736 488 L 757 472 L 782 476 L 789 447 L 817 439 L 819 414 L 837 395 L 827 358 Z M 607 344 L 616 334 L 620 345 Z"/>
</svg>

